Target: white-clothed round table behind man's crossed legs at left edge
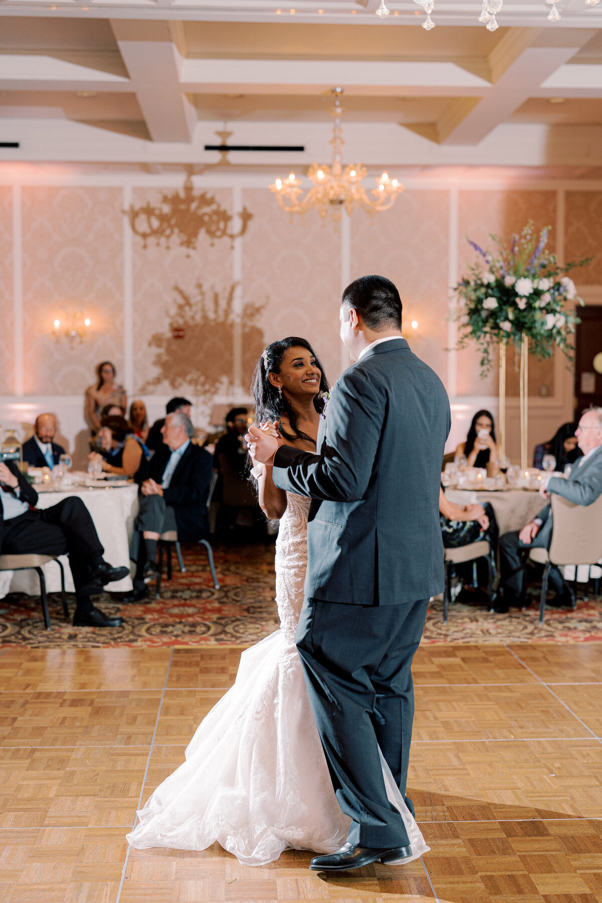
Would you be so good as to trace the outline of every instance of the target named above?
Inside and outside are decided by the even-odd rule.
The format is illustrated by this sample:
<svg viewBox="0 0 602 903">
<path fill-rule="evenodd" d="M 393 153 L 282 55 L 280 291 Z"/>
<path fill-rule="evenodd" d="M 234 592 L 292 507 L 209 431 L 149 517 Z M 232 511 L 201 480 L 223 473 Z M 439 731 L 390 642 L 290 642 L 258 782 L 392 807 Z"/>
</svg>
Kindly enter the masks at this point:
<svg viewBox="0 0 602 903">
<path fill-rule="evenodd" d="M 134 517 L 138 511 L 138 487 L 133 483 L 125 485 L 100 485 L 94 488 L 72 487 L 69 489 L 38 490 L 37 507 L 47 508 L 58 504 L 63 498 L 79 496 L 88 508 L 100 542 L 105 548 L 105 561 L 114 567 L 130 567 L 129 545 L 134 530 Z M 69 568 L 69 556 L 61 555 L 60 561 L 65 568 L 65 586 L 73 592 L 73 578 Z M 50 562 L 44 564 L 46 589 L 49 592 L 60 591 L 60 568 Z M 125 592 L 132 589 L 132 580 L 126 577 L 110 583 L 110 591 Z M 40 595 L 40 581 L 35 571 L 3 571 L 0 573 L 0 599 L 8 592 L 25 592 L 30 596 Z"/>
</svg>

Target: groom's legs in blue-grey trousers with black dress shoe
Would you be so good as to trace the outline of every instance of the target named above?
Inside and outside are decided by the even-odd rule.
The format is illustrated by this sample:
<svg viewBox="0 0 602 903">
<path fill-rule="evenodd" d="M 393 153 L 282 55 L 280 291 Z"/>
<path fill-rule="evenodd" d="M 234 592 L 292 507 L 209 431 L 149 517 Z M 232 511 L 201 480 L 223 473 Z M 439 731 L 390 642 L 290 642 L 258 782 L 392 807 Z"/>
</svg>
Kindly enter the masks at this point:
<svg viewBox="0 0 602 903">
<path fill-rule="evenodd" d="M 380 752 L 405 796 L 412 739 L 412 657 L 429 600 L 358 606 L 306 599 L 296 643 L 342 811 L 347 842 L 312 870 L 343 871 L 412 857 L 403 816 L 389 801 Z"/>
</svg>

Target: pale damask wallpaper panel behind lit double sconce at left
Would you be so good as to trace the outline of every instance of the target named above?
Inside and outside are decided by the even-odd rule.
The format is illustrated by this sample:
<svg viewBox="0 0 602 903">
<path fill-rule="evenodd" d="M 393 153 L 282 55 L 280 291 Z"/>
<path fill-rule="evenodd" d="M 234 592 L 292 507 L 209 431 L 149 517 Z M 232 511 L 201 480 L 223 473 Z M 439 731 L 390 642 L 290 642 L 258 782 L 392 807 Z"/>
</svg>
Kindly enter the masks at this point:
<svg viewBox="0 0 602 903">
<path fill-rule="evenodd" d="M 23 188 L 25 395 L 78 395 L 109 359 L 123 375 L 122 191 Z M 92 321 L 84 342 L 55 340 L 52 322 Z"/>
</svg>

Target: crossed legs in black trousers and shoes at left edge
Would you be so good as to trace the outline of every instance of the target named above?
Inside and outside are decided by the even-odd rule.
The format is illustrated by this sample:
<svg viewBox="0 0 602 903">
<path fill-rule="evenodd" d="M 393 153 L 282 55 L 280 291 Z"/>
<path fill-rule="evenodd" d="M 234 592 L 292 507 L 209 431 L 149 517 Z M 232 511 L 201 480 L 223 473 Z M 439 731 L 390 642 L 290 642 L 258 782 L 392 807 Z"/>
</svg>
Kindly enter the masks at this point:
<svg viewBox="0 0 602 903">
<path fill-rule="evenodd" d="M 97 530 L 81 498 L 70 496 L 43 511 L 25 511 L 4 522 L 4 554 L 69 555 L 75 584 L 76 627 L 119 627 L 122 618 L 110 618 L 95 608 L 91 595 L 103 586 L 123 580 L 126 567 L 114 568 L 103 559 Z"/>
</svg>

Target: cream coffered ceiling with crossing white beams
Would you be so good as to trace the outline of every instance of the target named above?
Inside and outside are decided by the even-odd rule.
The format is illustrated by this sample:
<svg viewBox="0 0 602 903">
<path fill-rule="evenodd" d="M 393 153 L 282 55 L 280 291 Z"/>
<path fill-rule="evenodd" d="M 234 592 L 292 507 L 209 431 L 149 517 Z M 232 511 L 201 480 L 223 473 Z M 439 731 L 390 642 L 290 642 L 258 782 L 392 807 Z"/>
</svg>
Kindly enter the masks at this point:
<svg viewBox="0 0 602 903">
<path fill-rule="evenodd" d="M 489 33 L 478 0 L 74 0 L 0 5 L 0 161 L 203 163 L 227 127 L 253 169 L 328 153 L 344 88 L 349 152 L 368 164 L 602 165 L 602 4 L 506 0 Z M 321 11 L 321 12 L 320 12 Z M 571 146 L 570 135 L 573 136 Z M 357 153 L 352 149 L 357 145 Z"/>
</svg>

